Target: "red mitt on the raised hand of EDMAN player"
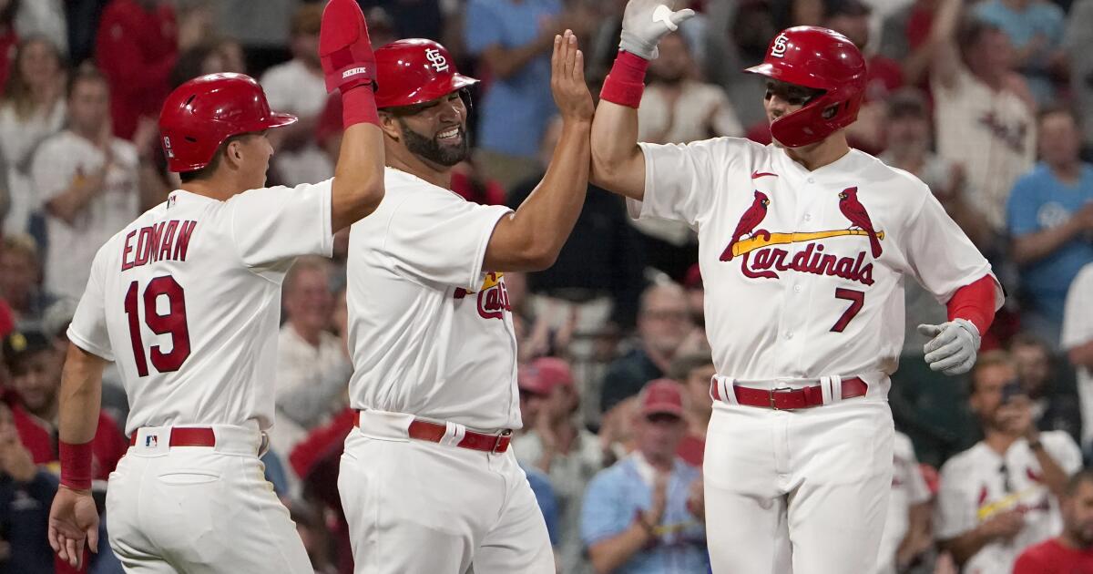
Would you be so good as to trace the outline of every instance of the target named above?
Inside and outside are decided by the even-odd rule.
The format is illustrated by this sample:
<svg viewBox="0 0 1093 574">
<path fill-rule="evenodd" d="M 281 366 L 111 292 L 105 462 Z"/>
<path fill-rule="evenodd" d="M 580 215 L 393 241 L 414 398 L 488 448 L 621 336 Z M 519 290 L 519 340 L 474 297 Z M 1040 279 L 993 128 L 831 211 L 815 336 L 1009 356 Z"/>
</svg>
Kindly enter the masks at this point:
<svg viewBox="0 0 1093 574">
<path fill-rule="evenodd" d="M 322 11 L 319 58 L 327 92 L 342 94 L 359 85 L 375 85 L 376 56 L 368 39 L 368 25 L 354 0 L 330 0 Z"/>
</svg>

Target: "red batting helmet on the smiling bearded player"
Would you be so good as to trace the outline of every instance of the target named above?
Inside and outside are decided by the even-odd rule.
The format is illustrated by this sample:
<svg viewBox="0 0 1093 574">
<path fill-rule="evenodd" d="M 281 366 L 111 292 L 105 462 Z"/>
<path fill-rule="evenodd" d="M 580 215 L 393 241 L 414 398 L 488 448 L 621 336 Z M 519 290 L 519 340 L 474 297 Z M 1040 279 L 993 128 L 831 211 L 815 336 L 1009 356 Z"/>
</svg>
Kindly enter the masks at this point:
<svg viewBox="0 0 1093 574">
<path fill-rule="evenodd" d="M 400 39 L 376 50 L 376 107 L 422 104 L 478 80 L 462 75 L 448 50 L 431 39 Z"/>
</svg>

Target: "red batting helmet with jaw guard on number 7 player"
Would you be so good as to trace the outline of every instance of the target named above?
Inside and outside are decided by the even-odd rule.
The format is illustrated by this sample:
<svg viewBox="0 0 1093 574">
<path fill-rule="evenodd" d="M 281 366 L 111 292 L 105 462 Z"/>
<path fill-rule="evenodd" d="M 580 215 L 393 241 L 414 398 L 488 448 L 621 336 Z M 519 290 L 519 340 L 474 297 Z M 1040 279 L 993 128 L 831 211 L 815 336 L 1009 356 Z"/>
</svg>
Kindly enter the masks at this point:
<svg viewBox="0 0 1093 574">
<path fill-rule="evenodd" d="M 866 60 L 846 36 L 816 26 L 781 31 L 767 48 L 763 63 L 748 72 L 824 93 L 801 109 L 771 124 L 771 134 L 783 145 L 815 143 L 858 118 L 866 90 Z"/>
</svg>

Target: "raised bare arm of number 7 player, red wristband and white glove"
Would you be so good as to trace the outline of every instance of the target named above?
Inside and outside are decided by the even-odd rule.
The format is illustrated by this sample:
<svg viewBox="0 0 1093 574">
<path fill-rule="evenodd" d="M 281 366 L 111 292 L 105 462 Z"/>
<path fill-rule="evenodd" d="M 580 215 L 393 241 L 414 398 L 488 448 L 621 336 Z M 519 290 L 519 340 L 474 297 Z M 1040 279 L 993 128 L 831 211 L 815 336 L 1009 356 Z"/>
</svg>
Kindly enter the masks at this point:
<svg viewBox="0 0 1093 574">
<path fill-rule="evenodd" d="M 645 197 L 645 156 L 637 145 L 637 106 L 645 71 L 657 57 L 660 38 L 693 15 L 693 10 L 672 12 L 661 0 L 626 3 L 621 49 L 603 81 L 592 121 L 593 184 L 631 199 Z"/>
</svg>

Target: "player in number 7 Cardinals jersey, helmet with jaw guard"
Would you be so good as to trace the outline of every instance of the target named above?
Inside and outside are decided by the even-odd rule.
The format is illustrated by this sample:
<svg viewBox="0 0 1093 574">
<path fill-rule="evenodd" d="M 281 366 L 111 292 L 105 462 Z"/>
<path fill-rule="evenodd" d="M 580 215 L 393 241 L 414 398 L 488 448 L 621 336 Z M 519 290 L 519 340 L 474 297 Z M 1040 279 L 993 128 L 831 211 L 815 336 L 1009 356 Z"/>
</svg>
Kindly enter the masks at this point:
<svg viewBox="0 0 1093 574">
<path fill-rule="evenodd" d="M 903 283 L 950 320 L 921 326 L 931 368 L 966 372 L 1001 304 L 990 266 L 914 176 L 851 150 L 866 65 L 846 37 L 792 27 L 771 43 L 775 143 L 637 142 L 659 38 L 692 15 L 631 0 L 592 126 L 593 183 L 633 216 L 698 233 L 717 375 L 705 453 L 715 573 L 870 572 L 891 490 L 889 375 Z"/>
</svg>

